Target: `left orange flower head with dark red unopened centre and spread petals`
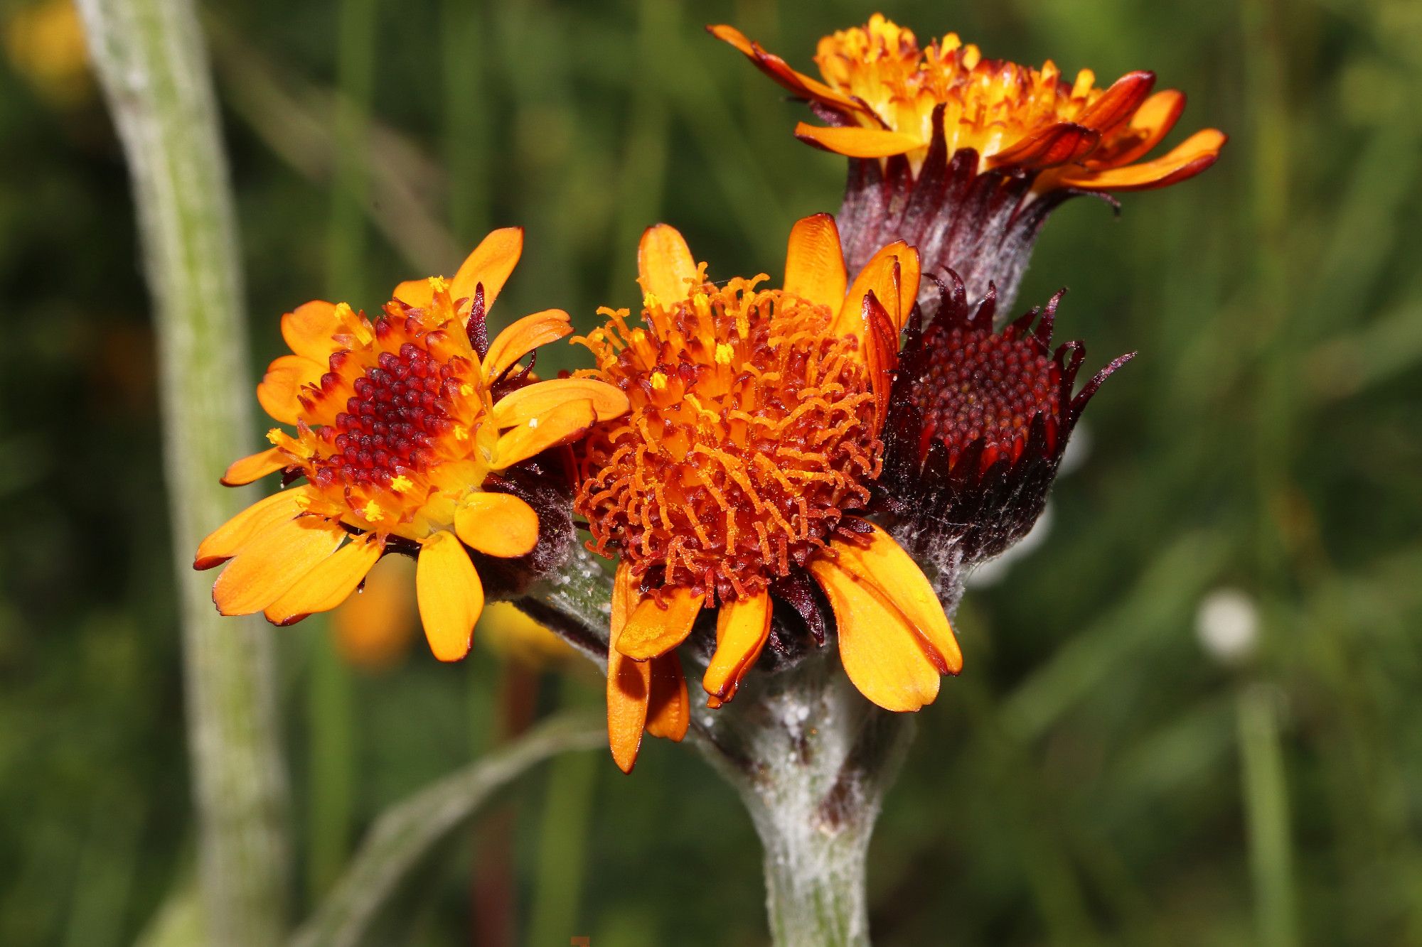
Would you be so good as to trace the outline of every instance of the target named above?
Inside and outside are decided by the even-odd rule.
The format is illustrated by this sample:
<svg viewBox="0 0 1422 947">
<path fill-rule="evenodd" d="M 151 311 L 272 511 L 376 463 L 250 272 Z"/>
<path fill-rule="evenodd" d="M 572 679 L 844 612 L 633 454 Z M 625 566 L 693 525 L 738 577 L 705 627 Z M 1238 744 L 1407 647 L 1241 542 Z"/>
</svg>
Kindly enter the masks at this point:
<svg viewBox="0 0 1422 947">
<path fill-rule="evenodd" d="M 374 321 L 324 301 L 283 317 L 292 354 L 272 363 L 257 400 L 296 434 L 273 428 L 273 446 L 223 482 L 276 471 L 306 482 L 203 540 L 196 567 L 230 560 L 213 586 L 223 614 L 299 621 L 340 604 L 385 552 L 407 552 L 435 656 L 468 653 L 483 607 L 468 550 L 519 557 L 539 542 L 538 513 L 498 475 L 627 410 L 596 381 L 528 384 L 523 355 L 572 331 L 562 310 L 488 340 L 488 309 L 522 245 L 522 230 L 495 230 L 452 280 L 395 287 Z"/>
</svg>

